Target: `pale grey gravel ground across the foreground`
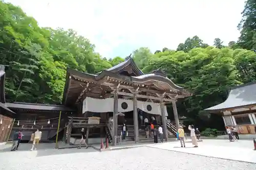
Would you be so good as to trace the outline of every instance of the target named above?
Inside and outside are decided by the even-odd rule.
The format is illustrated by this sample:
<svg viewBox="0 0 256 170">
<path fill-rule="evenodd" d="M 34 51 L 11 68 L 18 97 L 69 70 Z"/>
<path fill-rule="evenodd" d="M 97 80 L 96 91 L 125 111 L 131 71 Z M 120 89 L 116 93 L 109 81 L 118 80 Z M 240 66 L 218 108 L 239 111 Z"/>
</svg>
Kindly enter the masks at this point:
<svg viewBox="0 0 256 170">
<path fill-rule="evenodd" d="M 256 164 L 156 148 L 95 152 L 92 148 L 0 152 L 0 169 L 256 169 Z"/>
</svg>

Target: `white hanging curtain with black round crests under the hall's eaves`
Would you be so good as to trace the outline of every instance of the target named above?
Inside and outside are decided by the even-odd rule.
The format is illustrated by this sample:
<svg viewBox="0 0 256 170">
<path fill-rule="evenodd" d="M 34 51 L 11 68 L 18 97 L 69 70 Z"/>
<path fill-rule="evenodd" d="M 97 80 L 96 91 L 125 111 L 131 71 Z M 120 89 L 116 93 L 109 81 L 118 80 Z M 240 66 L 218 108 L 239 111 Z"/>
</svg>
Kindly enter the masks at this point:
<svg viewBox="0 0 256 170">
<path fill-rule="evenodd" d="M 138 101 L 137 107 L 150 114 L 161 115 L 161 108 L 159 103 L 152 102 L 140 102 Z M 129 112 L 133 110 L 133 100 L 118 99 L 118 112 Z M 83 101 L 82 113 L 90 112 L 113 112 L 114 111 L 114 99 L 94 99 L 87 97 Z M 164 106 L 165 116 L 168 116 L 166 106 Z"/>
</svg>

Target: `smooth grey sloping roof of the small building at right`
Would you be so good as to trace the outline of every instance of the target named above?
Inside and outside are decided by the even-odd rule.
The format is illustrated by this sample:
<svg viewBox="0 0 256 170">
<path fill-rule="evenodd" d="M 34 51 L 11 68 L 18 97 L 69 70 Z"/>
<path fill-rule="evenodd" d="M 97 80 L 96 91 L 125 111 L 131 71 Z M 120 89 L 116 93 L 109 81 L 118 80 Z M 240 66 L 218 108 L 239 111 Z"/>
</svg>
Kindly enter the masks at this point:
<svg viewBox="0 0 256 170">
<path fill-rule="evenodd" d="M 229 108 L 237 108 L 256 104 L 256 82 L 251 82 L 232 87 L 225 102 L 207 108 L 207 111 L 223 111 Z"/>
</svg>

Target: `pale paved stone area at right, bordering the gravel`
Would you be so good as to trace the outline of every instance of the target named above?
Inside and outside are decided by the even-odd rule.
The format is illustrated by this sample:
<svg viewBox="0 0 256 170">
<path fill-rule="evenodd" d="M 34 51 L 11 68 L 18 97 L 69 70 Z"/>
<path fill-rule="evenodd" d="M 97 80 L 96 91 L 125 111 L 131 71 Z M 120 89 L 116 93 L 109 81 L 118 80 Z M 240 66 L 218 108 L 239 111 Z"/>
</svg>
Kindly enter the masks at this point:
<svg viewBox="0 0 256 170">
<path fill-rule="evenodd" d="M 239 140 L 230 142 L 228 140 L 203 140 L 203 142 L 198 142 L 198 144 L 198 148 L 193 148 L 191 143 L 186 143 L 186 148 L 180 148 L 179 142 L 163 143 L 161 145 L 150 145 L 148 147 L 188 154 L 196 154 L 201 156 L 256 163 L 256 151 L 253 151 L 252 141 Z"/>
</svg>

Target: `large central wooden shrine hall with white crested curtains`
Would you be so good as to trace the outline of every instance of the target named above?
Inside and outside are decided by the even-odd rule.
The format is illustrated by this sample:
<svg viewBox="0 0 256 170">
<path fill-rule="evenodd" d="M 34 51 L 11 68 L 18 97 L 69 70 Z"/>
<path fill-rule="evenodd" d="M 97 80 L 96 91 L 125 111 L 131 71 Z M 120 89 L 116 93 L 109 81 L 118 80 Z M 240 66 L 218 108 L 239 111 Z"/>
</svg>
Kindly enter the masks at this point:
<svg viewBox="0 0 256 170">
<path fill-rule="evenodd" d="M 133 129 L 135 142 L 140 140 L 138 110 L 147 113 L 144 114 L 143 119 L 148 117 L 148 114 L 156 115 L 158 124 L 163 125 L 164 137 L 167 140 L 166 105 L 173 105 L 176 126 L 179 127 L 176 101 L 190 95 L 191 93 L 168 79 L 162 71 L 143 74 L 130 57 L 98 74 L 88 74 L 68 68 L 62 105 L 77 108 L 77 117 L 99 117 L 99 126 L 105 126 L 106 131 L 110 133 L 108 136 L 112 138 L 120 135 L 118 125 L 127 121 L 123 117 L 130 115 L 132 121 L 127 121 L 126 124 L 131 125 Z M 76 121 L 79 122 L 79 119 L 76 118 Z M 76 128 L 88 126 L 97 127 L 92 123 L 88 125 L 84 123 Z M 69 128 L 72 126 L 70 125 Z M 69 129 L 67 133 L 68 142 L 71 131 L 73 130 Z M 88 128 L 87 133 L 91 134 Z M 103 129 L 101 128 L 98 133 L 103 133 Z"/>
</svg>

